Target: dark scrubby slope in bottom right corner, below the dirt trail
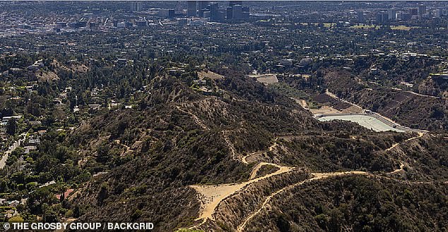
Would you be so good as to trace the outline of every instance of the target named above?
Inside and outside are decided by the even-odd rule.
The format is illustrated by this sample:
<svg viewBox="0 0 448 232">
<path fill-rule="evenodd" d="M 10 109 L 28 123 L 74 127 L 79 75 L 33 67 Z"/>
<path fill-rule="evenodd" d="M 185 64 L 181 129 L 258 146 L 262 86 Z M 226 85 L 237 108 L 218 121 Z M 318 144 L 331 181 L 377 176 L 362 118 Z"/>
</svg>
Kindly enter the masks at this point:
<svg viewBox="0 0 448 232">
<path fill-rule="evenodd" d="M 360 175 L 307 182 L 272 199 L 246 231 L 444 231 L 447 191 Z"/>
</svg>

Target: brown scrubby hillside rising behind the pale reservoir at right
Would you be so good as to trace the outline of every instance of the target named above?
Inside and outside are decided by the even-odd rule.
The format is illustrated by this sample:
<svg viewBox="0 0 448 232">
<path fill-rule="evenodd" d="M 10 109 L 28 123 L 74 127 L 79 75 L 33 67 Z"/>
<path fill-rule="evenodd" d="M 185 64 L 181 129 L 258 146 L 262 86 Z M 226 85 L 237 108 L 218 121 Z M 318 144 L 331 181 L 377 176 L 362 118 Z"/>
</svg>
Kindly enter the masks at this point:
<svg viewBox="0 0 448 232">
<path fill-rule="evenodd" d="M 448 129 L 446 98 L 390 88 L 367 88 L 347 71 L 328 71 L 324 79 L 331 93 L 363 108 L 379 112 L 400 124 L 429 130 Z"/>
</svg>

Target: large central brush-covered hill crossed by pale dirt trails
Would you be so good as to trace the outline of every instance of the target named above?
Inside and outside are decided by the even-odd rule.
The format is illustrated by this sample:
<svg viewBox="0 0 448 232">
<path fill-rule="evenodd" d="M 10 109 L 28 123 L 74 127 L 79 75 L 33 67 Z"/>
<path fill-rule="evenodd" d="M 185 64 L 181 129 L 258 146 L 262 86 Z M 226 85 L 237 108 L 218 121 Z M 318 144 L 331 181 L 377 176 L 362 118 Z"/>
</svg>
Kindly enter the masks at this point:
<svg viewBox="0 0 448 232">
<path fill-rule="evenodd" d="M 393 178 L 388 185 L 398 186 L 405 180 L 448 178 L 446 139 L 318 122 L 293 100 L 252 79 L 235 76 L 218 85 L 223 96 L 204 96 L 160 77 L 141 108 L 107 112 L 76 129 L 69 141 L 78 144 L 84 167 L 107 172 L 73 197 L 78 220 L 151 221 L 157 231 L 264 230 L 275 225 L 259 227 L 263 202 L 278 202 L 277 195 L 304 181 L 325 187 L 333 176 L 353 173 L 382 177 L 372 180 L 381 188 L 383 178 Z M 240 97 L 244 86 L 252 91 Z M 205 195 L 191 186 L 203 186 Z M 206 200 L 207 189 L 216 187 L 230 195 Z M 283 211 L 285 206 L 275 207 Z M 210 216 L 201 216 L 206 209 Z M 319 221 L 315 216 L 304 215 L 314 221 L 310 225 Z M 291 216 L 280 218 L 271 222 L 294 227 Z"/>
</svg>

